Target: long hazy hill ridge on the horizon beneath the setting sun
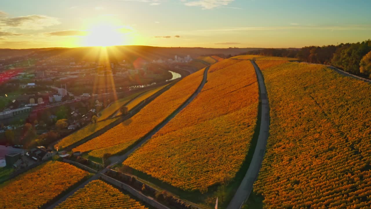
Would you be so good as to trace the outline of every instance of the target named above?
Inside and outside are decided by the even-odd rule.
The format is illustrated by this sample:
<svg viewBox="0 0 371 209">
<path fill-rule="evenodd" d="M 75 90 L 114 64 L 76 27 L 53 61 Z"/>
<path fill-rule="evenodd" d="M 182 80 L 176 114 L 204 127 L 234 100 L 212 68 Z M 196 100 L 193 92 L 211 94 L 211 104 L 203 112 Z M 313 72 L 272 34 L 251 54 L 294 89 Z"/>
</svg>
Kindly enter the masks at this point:
<svg viewBox="0 0 371 209">
<path fill-rule="evenodd" d="M 40 48 L 40 49 L 0 49 L 0 59 L 10 56 L 26 56 L 27 58 L 47 58 L 53 56 L 72 57 L 76 61 L 122 61 L 129 62 L 142 57 L 145 60 L 174 59 L 175 55 L 193 58 L 202 55 L 237 55 L 261 48 L 188 48 L 188 47 L 155 47 L 155 46 L 109 46 L 79 48 Z"/>
</svg>

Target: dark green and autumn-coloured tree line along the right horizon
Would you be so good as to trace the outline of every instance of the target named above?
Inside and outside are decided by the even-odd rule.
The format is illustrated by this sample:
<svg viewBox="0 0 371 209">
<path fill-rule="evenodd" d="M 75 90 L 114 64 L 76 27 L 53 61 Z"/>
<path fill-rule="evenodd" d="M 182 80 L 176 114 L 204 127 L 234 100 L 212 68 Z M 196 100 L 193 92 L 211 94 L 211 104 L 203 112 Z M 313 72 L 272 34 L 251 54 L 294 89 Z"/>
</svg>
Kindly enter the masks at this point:
<svg viewBox="0 0 371 209">
<path fill-rule="evenodd" d="M 371 39 L 336 46 L 305 46 L 301 49 L 258 49 L 244 54 L 298 58 L 304 62 L 333 65 L 348 73 L 371 78 Z"/>
</svg>

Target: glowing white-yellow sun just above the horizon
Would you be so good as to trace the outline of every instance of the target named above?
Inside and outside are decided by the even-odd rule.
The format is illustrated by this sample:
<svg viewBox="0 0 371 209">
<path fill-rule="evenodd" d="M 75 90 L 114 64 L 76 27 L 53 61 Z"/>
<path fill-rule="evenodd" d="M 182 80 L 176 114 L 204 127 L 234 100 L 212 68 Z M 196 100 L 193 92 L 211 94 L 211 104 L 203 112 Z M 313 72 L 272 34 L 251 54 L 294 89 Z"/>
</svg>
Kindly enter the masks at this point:
<svg viewBox="0 0 371 209">
<path fill-rule="evenodd" d="M 85 46 L 117 46 L 127 45 L 128 28 L 109 23 L 94 25 L 88 29 L 88 35 L 83 38 Z"/>
</svg>

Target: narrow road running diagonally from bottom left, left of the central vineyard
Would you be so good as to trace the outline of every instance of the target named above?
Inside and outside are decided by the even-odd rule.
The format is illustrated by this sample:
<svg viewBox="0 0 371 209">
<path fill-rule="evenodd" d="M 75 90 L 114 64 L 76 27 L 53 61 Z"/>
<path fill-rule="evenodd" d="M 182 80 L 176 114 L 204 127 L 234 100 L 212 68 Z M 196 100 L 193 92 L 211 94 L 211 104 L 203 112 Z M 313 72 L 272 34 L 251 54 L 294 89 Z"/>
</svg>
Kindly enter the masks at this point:
<svg viewBox="0 0 371 209">
<path fill-rule="evenodd" d="M 204 87 L 206 81 L 207 81 L 207 71 L 209 71 L 209 67 L 205 68 L 204 70 L 204 76 L 203 76 L 203 79 L 201 81 L 201 84 L 200 86 L 198 86 L 197 90 L 187 99 L 185 100 L 185 102 L 180 106 L 178 107 L 178 109 L 176 109 L 173 113 L 171 113 L 170 116 L 168 116 L 164 121 L 162 121 L 159 125 L 157 125 L 157 127 L 155 129 L 153 129 L 152 131 L 150 131 L 146 136 L 145 138 L 142 139 L 141 142 L 139 142 L 137 145 L 135 145 L 133 148 L 131 148 L 129 151 L 127 151 L 124 155 L 120 155 L 120 156 L 112 156 L 109 158 L 109 160 L 111 160 L 111 162 L 115 162 L 115 163 L 112 163 L 111 165 L 113 164 L 116 164 L 116 163 L 122 163 L 124 160 L 126 160 L 126 158 L 132 153 L 135 151 L 135 149 L 137 149 L 138 147 L 140 147 L 142 144 L 144 144 L 148 139 L 150 139 L 156 132 L 158 132 L 162 127 L 164 127 L 171 119 L 173 119 L 175 117 L 175 115 L 177 115 L 181 110 L 184 109 L 184 107 L 186 107 L 189 103 L 192 102 L 192 100 L 198 95 L 198 93 L 201 92 L 202 88 Z M 109 165 L 110 166 L 110 165 Z M 108 166 L 108 167 L 109 167 Z M 49 207 L 47 207 L 47 209 L 53 209 L 55 208 L 57 205 L 59 205 L 60 203 L 62 203 L 63 201 L 65 201 L 69 196 L 71 196 L 73 193 L 75 193 L 78 189 L 81 189 L 83 188 L 86 184 L 88 184 L 90 181 L 93 181 L 93 180 L 97 180 L 99 179 L 99 177 L 101 176 L 101 174 L 104 174 L 106 171 L 108 170 L 108 168 L 104 168 L 103 170 L 99 171 L 98 173 L 96 173 L 94 176 L 90 177 L 89 179 L 87 179 L 86 181 L 84 181 L 83 183 L 81 183 L 78 187 L 76 187 L 75 189 L 73 189 L 72 191 L 70 191 L 69 193 L 65 194 L 63 197 L 59 198 L 56 202 L 54 202 L 52 205 L 50 205 Z"/>
</svg>

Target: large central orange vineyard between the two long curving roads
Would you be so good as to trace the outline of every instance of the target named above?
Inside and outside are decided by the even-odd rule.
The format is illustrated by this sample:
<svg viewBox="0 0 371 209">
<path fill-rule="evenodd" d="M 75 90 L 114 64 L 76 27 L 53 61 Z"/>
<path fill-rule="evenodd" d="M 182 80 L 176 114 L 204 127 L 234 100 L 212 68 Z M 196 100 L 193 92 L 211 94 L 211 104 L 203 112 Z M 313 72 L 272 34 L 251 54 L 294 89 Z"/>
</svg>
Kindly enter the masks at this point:
<svg viewBox="0 0 371 209">
<path fill-rule="evenodd" d="M 207 192 L 232 180 L 254 134 L 259 104 L 250 61 L 223 60 L 187 107 L 124 165 L 185 191 Z"/>
</svg>

